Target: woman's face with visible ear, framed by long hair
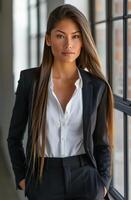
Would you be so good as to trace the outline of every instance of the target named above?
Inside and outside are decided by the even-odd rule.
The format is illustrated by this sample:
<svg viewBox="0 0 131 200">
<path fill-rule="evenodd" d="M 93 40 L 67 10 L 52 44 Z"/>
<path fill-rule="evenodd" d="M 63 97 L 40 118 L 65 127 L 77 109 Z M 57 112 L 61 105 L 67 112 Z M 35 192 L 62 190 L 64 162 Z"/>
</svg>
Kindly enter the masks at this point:
<svg viewBox="0 0 131 200">
<path fill-rule="evenodd" d="M 55 61 L 74 62 L 81 52 L 81 32 L 71 19 L 63 19 L 46 36 L 46 43 L 51 46 Z"/>
</svg>

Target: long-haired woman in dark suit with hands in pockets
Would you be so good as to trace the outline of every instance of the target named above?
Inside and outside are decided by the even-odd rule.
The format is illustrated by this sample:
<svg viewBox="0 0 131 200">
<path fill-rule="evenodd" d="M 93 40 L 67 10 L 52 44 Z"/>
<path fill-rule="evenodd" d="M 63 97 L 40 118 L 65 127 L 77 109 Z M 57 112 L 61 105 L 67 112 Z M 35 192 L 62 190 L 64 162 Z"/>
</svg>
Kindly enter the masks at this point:
<svg viewBox="0 0 131 200">
<path fill-rule="evenodd" d="M 112 117 L 111 88 L 88 22 L 74 6 L 57 7 L 41 66 L 23 70 L 16 91 L 8 147 L 17 188 L 29 200 L 107 198 Z"/>
</svg>

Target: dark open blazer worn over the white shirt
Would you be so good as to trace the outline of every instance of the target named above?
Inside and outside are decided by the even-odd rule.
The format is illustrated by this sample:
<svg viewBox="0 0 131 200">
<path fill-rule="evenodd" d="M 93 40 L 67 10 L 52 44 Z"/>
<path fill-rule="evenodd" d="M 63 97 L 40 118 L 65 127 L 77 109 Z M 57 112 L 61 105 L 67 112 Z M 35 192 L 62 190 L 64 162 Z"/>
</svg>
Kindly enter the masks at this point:
<svg viewBox="0 0 131 200">
<path fill-rule="evenodd" d="M 83 138 L 84 149 L 97 168 L 107 189 L 111 181 L 111 148 L 108 140 L 106 111 L 107 84 L 89 72 L 79 68 L 82 80 Z M 16 186 L 21 179 L 28 177 L 31 149 L 31 116 L 40 67 L 21 71 L 16 99 L 8 135 L 8 148 L 15 174 Z M 22 140 L 28 122 L 26 154 Z M 25 156 L 26 155 L 26 156 Z"/>
</svg>

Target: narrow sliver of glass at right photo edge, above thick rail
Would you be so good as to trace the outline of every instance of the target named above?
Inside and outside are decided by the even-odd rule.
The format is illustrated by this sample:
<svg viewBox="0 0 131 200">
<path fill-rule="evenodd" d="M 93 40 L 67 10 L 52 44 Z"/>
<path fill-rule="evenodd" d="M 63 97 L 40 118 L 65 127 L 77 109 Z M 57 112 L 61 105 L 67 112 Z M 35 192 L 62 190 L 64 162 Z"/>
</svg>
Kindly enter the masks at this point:
<svg viewBox="0 0 131 200">
<path fill-rule="evenodd" d="M 131 19 L 128 20 L 128 100 L 131 100 Z"/>
</svg>

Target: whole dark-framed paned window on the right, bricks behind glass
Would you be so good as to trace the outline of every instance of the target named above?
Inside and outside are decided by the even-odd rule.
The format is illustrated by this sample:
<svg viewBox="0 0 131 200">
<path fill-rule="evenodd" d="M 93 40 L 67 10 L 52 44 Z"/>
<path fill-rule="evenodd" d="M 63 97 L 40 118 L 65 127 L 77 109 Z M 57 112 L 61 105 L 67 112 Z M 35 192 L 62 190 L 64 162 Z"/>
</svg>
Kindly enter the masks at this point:
<svg viewBox="0 0 131 200">
<path fill-rule="evenodd" d="M 131 0 L 90 0 L 90 24 L 115 98 L 110 193 L 131 199 Z"/>
</svg>

